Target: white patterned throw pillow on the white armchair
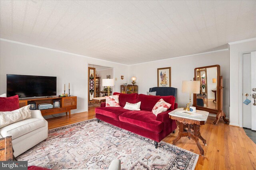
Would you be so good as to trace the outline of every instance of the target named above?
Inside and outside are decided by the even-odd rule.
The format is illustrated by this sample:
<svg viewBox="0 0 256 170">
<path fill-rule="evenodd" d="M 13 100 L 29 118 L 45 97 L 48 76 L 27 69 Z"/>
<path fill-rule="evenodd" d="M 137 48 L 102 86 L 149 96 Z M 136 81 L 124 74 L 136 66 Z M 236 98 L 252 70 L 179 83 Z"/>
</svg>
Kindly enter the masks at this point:
<svg viewBox="0 0 256 170">
<path fill-rule="evenodd" d="M 29 107 L 30 104 L 14 111 L 0 111 L 0 128 L 31 118 Z"/>
</svg>

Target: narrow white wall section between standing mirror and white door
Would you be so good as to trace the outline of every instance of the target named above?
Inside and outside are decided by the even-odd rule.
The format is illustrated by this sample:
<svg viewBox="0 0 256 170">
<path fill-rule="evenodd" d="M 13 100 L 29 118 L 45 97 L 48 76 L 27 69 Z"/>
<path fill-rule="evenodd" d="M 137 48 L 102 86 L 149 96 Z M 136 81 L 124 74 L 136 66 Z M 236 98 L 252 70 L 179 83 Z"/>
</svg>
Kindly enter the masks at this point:
<svg viewBox="0 0 256 170">
<path fill-rule="evenodd" d="M 256 51 L 256 38 L 230 44 L 230 125 L 242 127 L 242 54 Z"/>
</svg>

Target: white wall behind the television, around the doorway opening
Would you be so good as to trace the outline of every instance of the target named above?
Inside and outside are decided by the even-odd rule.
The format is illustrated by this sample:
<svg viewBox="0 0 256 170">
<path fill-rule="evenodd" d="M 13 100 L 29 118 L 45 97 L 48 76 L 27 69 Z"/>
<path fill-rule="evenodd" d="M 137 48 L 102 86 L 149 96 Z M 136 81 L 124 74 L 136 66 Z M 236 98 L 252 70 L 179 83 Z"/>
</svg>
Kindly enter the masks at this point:
<svg viewBox="0 0 256 170">
<path fill-rule="evenodd" d="M 70 94 L 77 96 L 77 109 L 72 113 L 88 111 L 88 64 L 113 67 L 118 78 L 114 91 L 120 92 L 120 85 L 128 78 L 128 66 L 124 64 L 1 39 L 0 94 L 6 93 L 6 74 L 57 76 L 57 94 L 63 93 L 64 83 L 67 87 L 70 82 Z"/>
</svg>

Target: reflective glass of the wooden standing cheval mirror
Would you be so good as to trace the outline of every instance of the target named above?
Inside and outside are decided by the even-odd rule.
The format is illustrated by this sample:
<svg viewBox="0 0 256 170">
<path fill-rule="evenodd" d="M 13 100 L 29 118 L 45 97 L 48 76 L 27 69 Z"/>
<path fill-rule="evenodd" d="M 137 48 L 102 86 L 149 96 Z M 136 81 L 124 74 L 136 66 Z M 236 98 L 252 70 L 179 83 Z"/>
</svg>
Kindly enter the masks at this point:
<svg viewBox="0 0 256 170">
<path fill-rule="evenodd" d="M 196 80 L 201 82 L 200 94 L 196 95 L 196 105 L 217 109 L 217 67 L 196 69 Z"/>
</svg>

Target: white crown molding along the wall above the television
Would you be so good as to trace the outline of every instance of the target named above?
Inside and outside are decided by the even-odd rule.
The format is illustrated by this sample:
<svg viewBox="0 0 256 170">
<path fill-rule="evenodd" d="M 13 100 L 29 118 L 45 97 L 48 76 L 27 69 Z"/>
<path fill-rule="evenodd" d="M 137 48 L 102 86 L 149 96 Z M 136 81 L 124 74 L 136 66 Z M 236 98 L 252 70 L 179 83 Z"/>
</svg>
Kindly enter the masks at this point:
<svg viewBox="0 0 256 170">
<path fill-rule="evenodd" d="M 51 49 L 51 48 L 47 48 L 47 47 L 41 47 L 41 46 L 38 46 L 38 45 L 22 43 L 22 42 L 19 42 L 19 41 L 12 41 L 12 40 L 9 40 L 9 39 L 4 39 L 4 38 L 0 38 L 0 41 L 6 41 L 6 42 L 9 42 L 9 43 L 15 43 L 15 44 L 26 45 L 26 46 L 30 46 L 30 47 L 36 47 L 36 48 L 40 48 L 40 49 L 46 49 L 46 50 L 60 52 L 60 53 L 65 53 L 65 54 L 70 54 L 70 55 L 76 55 L 76 56 L 79 56 L 79 57 L 85 57 L 85 58 L 88 58 L 88 59 L 94 59 L 94 60 L 99 60 L 99 61 L 104 61 L 104 62 L 109 62 L 109 63 L 122 64 L 122 63 L 116 63 L 116 62 L 113 62 L 113 61 L 107 61 L 107 60 L 87 57 L 87 56 L 84 56 L 84 55 L 79 55 L 79 54 L 70 53 L 70 52 L 66 52 L 66 51 Z M 122 64 L 122 65 L 128 66 L 128 64 Z"/>
</svg>

